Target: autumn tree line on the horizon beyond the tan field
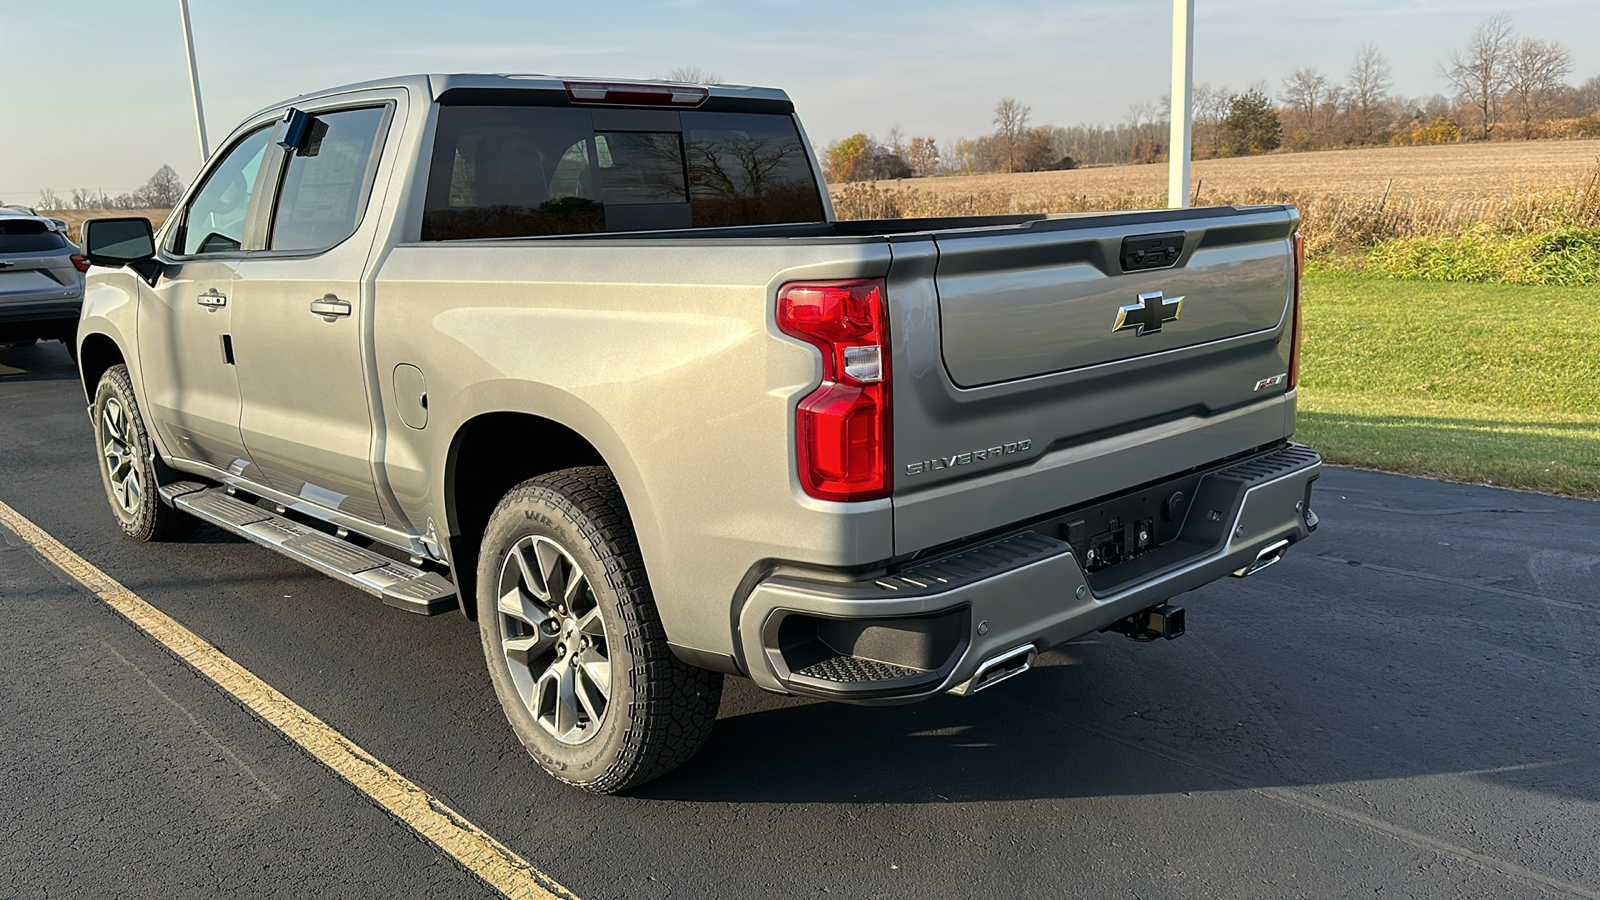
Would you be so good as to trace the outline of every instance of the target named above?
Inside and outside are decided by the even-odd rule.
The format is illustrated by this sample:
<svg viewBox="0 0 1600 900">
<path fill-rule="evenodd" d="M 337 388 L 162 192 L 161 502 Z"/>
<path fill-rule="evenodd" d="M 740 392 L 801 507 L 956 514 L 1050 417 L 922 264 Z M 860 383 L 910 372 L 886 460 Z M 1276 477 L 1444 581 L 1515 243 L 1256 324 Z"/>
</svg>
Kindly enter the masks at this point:
<svg viewBox="0 0 1600 900">
<path fill-rule="evenodd" d="M 1365 45 L 1342 78 L 1301 67 L 1277 91 L 1269 82 L 1242 91 L 1195 85 L 1194 157 L 1600 138 L 1600 75 L 1570 83 L 1571 51 L 1558 40 L 1518 35 L 1506 13 L 1478 24 L 1466 46 L 1438 62 L 1438 75 L 1448 94 L 1395 94 L 1387 58 Z M 829 144 L 822 162 L 829 181 L 1160 162 L 1170 109 L 1163 96 L 1134 104 L 1117 125 L 1032 125 L 1032 109 L 1006 98 L 995 104 L 989 135 L 939 146 L 898 128 L 883 139 L 859 133 Z"/>
</svg>

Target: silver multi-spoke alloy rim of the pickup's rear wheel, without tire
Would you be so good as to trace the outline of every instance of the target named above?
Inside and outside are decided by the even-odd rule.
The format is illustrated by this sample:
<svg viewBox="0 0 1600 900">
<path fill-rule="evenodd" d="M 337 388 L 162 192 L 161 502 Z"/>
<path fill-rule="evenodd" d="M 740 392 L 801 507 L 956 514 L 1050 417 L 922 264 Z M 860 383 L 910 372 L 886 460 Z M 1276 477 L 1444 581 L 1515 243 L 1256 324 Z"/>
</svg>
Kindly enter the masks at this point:
<svg viewBox="0 0 1600 900">
<path fill-rule="evenodd" d="M 542 535 L 512 544 L 499 572 L 501 650 L 523 706 L 550 737 L 584 743 L 605 721 L 611 645 L 573 554 Z"/>
</svg>

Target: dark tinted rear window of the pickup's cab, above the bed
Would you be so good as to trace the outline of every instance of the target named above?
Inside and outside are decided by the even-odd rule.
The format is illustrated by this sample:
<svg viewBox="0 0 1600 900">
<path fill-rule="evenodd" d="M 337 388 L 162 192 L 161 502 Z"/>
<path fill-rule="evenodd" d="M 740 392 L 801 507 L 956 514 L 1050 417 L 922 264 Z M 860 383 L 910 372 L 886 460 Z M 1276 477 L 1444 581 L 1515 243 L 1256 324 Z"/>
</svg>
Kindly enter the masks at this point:
<svg viewBox="0 0 1600 900">
<path fill-rule="evenodd" d="M 442 107 L 422 240 L 822 221 L 790 117 L 661 115 Z"/>
</svg>

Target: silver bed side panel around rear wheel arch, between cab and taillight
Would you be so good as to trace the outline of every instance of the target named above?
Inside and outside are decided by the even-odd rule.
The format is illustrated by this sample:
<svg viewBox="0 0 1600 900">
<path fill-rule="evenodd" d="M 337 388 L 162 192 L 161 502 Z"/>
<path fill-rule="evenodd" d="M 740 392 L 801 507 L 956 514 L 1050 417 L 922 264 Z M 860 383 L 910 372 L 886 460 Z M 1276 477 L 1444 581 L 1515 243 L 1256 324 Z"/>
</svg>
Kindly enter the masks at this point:
<svg viewBox="0 0 1600 900">
<path fill-rule="evenodd" d="M 890 501 L 800 490 L 794 410 L 819 354 L 773 322 L 778 287 L 877 277 L 882 242 L 526 240 L 406 243 L 376 280 L 386 469 L 413 525 L 443 522 L 451 439 L 525 412 L 584 436 L 616 472 L 669 637 L 733 653 L 747 581 L 786 564 L 893 552 Z M 395 365 L 424 372 L 429 423 L 392 410 Z M 470 575 L 467 575 L 470 577 Z"/>
</svg>

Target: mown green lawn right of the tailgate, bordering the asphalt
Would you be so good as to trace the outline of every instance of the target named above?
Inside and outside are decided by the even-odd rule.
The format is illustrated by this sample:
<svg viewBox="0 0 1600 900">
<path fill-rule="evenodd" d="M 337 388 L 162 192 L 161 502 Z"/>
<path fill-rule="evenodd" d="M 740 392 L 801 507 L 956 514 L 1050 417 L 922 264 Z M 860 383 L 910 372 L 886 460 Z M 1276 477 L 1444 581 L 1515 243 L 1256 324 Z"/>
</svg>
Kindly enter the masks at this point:
<svg viewBox="0 0 1600 900">
<path fill-rule="evenodd" d="M 1600 498 L 1600 288 L 1306 279 L 1302 440 L 1330 463 Z"/>
</svg>

